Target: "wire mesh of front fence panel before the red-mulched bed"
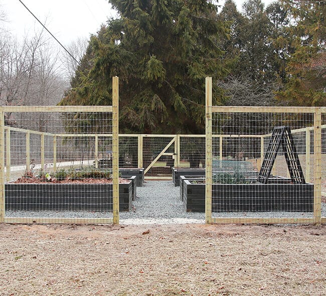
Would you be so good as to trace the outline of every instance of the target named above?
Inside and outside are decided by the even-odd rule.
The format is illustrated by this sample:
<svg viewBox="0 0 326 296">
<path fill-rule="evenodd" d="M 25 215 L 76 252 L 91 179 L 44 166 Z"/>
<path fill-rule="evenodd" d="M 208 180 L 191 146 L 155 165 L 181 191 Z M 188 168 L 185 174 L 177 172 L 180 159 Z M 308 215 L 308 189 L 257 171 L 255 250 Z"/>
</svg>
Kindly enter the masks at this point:
<svg viewBox="0 0 326 296">
<path fill-rule="evenodd" d="M 112 223 L 112 107 L 74 108 L 6 107 L 4 221 Z M 131 182 L 119 189 L 129 210 Z"/>
</svg>

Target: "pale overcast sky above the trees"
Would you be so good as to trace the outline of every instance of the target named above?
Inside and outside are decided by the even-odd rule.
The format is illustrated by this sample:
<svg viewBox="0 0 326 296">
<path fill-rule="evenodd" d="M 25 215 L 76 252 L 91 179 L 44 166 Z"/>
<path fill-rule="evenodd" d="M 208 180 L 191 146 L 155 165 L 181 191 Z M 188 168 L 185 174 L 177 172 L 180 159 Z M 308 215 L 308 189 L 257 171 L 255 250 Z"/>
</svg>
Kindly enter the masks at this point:
<svg viewBox="0 0 326 296">
<path fill-rule="evenodd" d="M 235 0 L 241 10 L 245 0 Z M 63 44 L 78 37 L 88 38 L 98 31 L 101 24 L 115 15 L 107 0 L 22 0 L 22 2 L 46 23 L 49 31 Z M 269 4 L 272 0 L 263 0 Z M 223 4 L 224 1 L 219 1 Z M 19 0 L 0 0 L 0 8 L 7 15 L 7 28 L 22 38 L 25 33 L 40 31 L 41 25 Z"/>
</svg>

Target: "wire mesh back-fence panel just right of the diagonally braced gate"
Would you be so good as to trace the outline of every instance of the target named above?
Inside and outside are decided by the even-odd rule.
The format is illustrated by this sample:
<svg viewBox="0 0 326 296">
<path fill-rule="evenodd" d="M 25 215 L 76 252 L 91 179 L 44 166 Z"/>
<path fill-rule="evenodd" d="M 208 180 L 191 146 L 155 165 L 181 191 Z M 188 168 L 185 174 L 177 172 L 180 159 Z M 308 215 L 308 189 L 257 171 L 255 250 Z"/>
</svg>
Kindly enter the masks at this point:
<svg viewBox="0 0 326 296">
<path fill-rule="evenodd" d="M 181 135 L 178 167 L 205 168 L 205 135 Z"/>
</svg>

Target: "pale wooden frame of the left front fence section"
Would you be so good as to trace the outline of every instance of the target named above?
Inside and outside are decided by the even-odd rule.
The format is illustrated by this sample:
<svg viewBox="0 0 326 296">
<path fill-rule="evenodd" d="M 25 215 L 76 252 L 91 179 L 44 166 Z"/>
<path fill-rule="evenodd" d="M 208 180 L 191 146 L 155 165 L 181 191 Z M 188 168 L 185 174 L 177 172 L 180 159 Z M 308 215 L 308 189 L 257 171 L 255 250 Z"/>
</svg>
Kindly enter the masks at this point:
<svg viewBox="0 0 326 296">
<path fill-rule="evenodd" d="M 119 223 L 119 80 L 112 77 L 112 106 L 2 106 L 0 107 L 0 223 L 57 223 L 57 224 L 118 224 Z M 49 217 L 6 217 L 5 213 L 5 128 L 26 132 L 26 145 L 29 147 L 31 133 L 41 135 L 41 167 L 44 167 L 44 136 L 51 135 L 56 143 L 57 134 L 5 127 L 6 112 L 112 112 L 112 166 L 113 166 L 113 218 L 49 218 Z M 9 134 L 9 135 L 8 135 Z M 71 136 L 72 134 L 69 134 Z M 83 134 L 85 136 L 85 134 Z M 7 132 L 7 140 L 10 132 Z M 8 141 L 7 141 L 8 145 Z M 9 141 L 10 145 L 10 141 Z M 7 146 L 8 149 L 8 146 Z M 9 149 L 10 151 L 10 149 Z M 54 149 L 54 155 L 56 149 Z M 8 157 L 8 155 L 7 155 Z M 29 151 L 27 150 L 27 169 L 29 169 Z M 54 165 L 55 165 L 54 161 Z M 9 168 L 8 168 L 9 166 Z M 10 162 L 7 163 L 7 176 L 10 172 Z"/>
</svg>

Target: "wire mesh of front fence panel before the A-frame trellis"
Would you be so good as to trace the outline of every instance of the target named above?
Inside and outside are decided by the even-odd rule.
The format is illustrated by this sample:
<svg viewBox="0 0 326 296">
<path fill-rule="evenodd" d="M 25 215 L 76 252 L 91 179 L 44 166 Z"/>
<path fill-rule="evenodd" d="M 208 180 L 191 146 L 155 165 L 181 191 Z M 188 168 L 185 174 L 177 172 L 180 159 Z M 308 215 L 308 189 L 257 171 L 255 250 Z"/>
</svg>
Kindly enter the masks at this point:
<svg viewBox="0 0 326 296">
<path fill-rule="evenodd" d="M 223 142 L 222 158 L 212 145 L 213 222 L 312 222 L 314 109 L 216 109 L 212 135 Z"/>
</svg>

